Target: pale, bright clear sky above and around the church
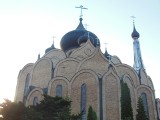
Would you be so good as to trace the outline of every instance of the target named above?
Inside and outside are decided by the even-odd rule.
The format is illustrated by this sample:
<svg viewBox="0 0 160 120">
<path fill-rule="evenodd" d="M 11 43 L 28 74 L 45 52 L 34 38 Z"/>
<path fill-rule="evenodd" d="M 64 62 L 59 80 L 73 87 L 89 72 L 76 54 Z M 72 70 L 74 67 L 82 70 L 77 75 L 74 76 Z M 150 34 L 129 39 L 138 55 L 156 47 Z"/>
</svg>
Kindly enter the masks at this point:
<svg viewBox="0 0 160 120">
<path fill-rule="evenodd" d="M 83 5 L 83 24 L 111 55 L 133 66 L 133 19 L 156 98 L 160 98 L 160 0 L 0 0 L 0 102 L 14 100 L 19 71 L 35 63 L 53 43 L 76 29 Z"/>
</svg>

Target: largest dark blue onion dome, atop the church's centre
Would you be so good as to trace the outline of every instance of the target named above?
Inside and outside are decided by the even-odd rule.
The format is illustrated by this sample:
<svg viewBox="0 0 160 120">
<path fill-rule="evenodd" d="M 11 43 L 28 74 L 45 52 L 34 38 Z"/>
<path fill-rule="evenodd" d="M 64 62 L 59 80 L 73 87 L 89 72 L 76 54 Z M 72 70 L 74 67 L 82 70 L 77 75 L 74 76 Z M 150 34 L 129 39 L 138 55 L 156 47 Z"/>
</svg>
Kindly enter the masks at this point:
<svg viewBox="0 0 160 120">
<path fill-rule="evenodd" d="M 92 44 L 95 47 L 100 45 L 100 44 L 97 44 L 99 43 L 97 36 L 94 33 L 89 32 L 84 28 L 82 24 L 83 19 L 80 18 L 79 20 L 80 20 L 80 23 L 78 27 L 75 30 L 66 33 L 61 39 L 61 43 L 60 43 L 61 48 L 65 52 L 73 48 L 78 48 L 81 43 L 86 42 L 88 39 L 91 40 Z M 88 35 L 89 37 L 87 37 L 87 34 L 89 34 Z"/>
</svg>

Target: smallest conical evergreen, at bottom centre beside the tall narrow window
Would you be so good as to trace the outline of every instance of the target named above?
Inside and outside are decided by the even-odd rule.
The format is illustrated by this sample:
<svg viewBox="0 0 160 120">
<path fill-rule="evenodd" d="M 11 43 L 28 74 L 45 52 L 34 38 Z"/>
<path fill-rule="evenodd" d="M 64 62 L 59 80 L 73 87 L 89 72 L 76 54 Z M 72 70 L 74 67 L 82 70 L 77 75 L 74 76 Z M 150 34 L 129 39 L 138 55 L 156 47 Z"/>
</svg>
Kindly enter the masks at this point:
<svg viewBox="0 0 160 120">
<path fill-rule="evenodd" d="M 87 120 L 97 120 L 97 114 L 93 110 L 92 106 L 89 106 Z"/>
</svg>

